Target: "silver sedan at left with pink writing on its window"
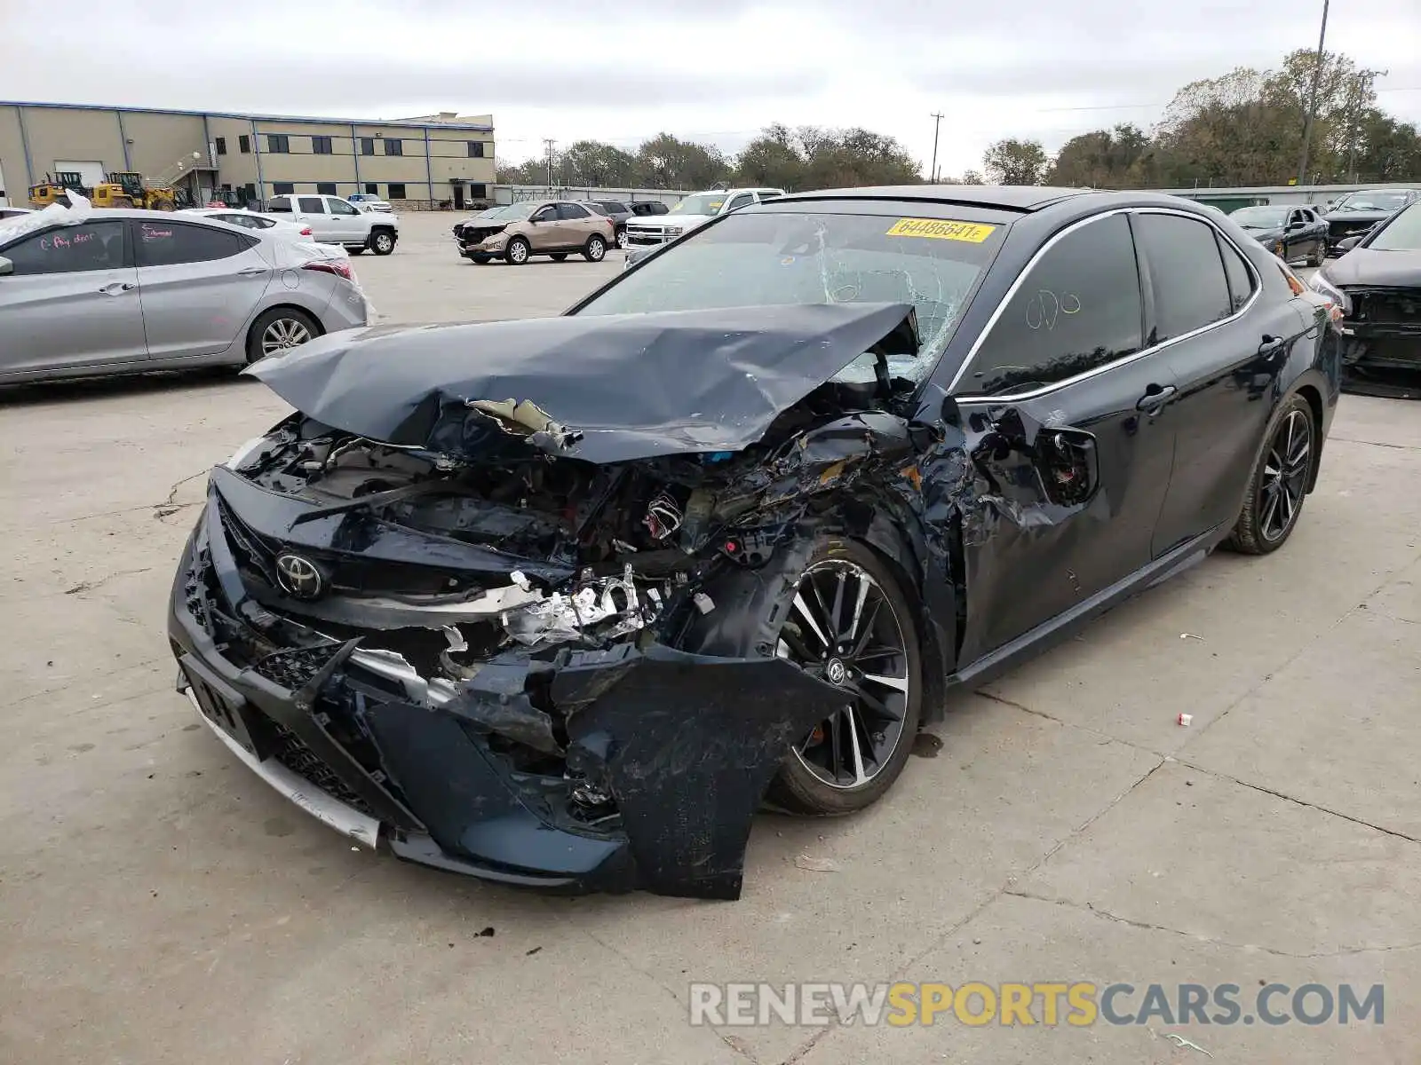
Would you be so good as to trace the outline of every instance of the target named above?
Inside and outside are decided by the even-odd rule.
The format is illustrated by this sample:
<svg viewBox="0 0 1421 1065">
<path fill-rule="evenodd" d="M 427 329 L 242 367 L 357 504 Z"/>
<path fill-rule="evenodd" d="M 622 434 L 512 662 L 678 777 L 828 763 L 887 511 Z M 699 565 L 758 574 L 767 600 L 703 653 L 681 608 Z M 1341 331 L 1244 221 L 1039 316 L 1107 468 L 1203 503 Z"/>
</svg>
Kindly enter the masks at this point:
<svg viewBox="0 0 1421 1065">
<path fill-rule="evenodd" d="M 0 382 L 246 364 L 364 325 L 338 250 L 178 213 L 0 223 Z"/>
</svg>

